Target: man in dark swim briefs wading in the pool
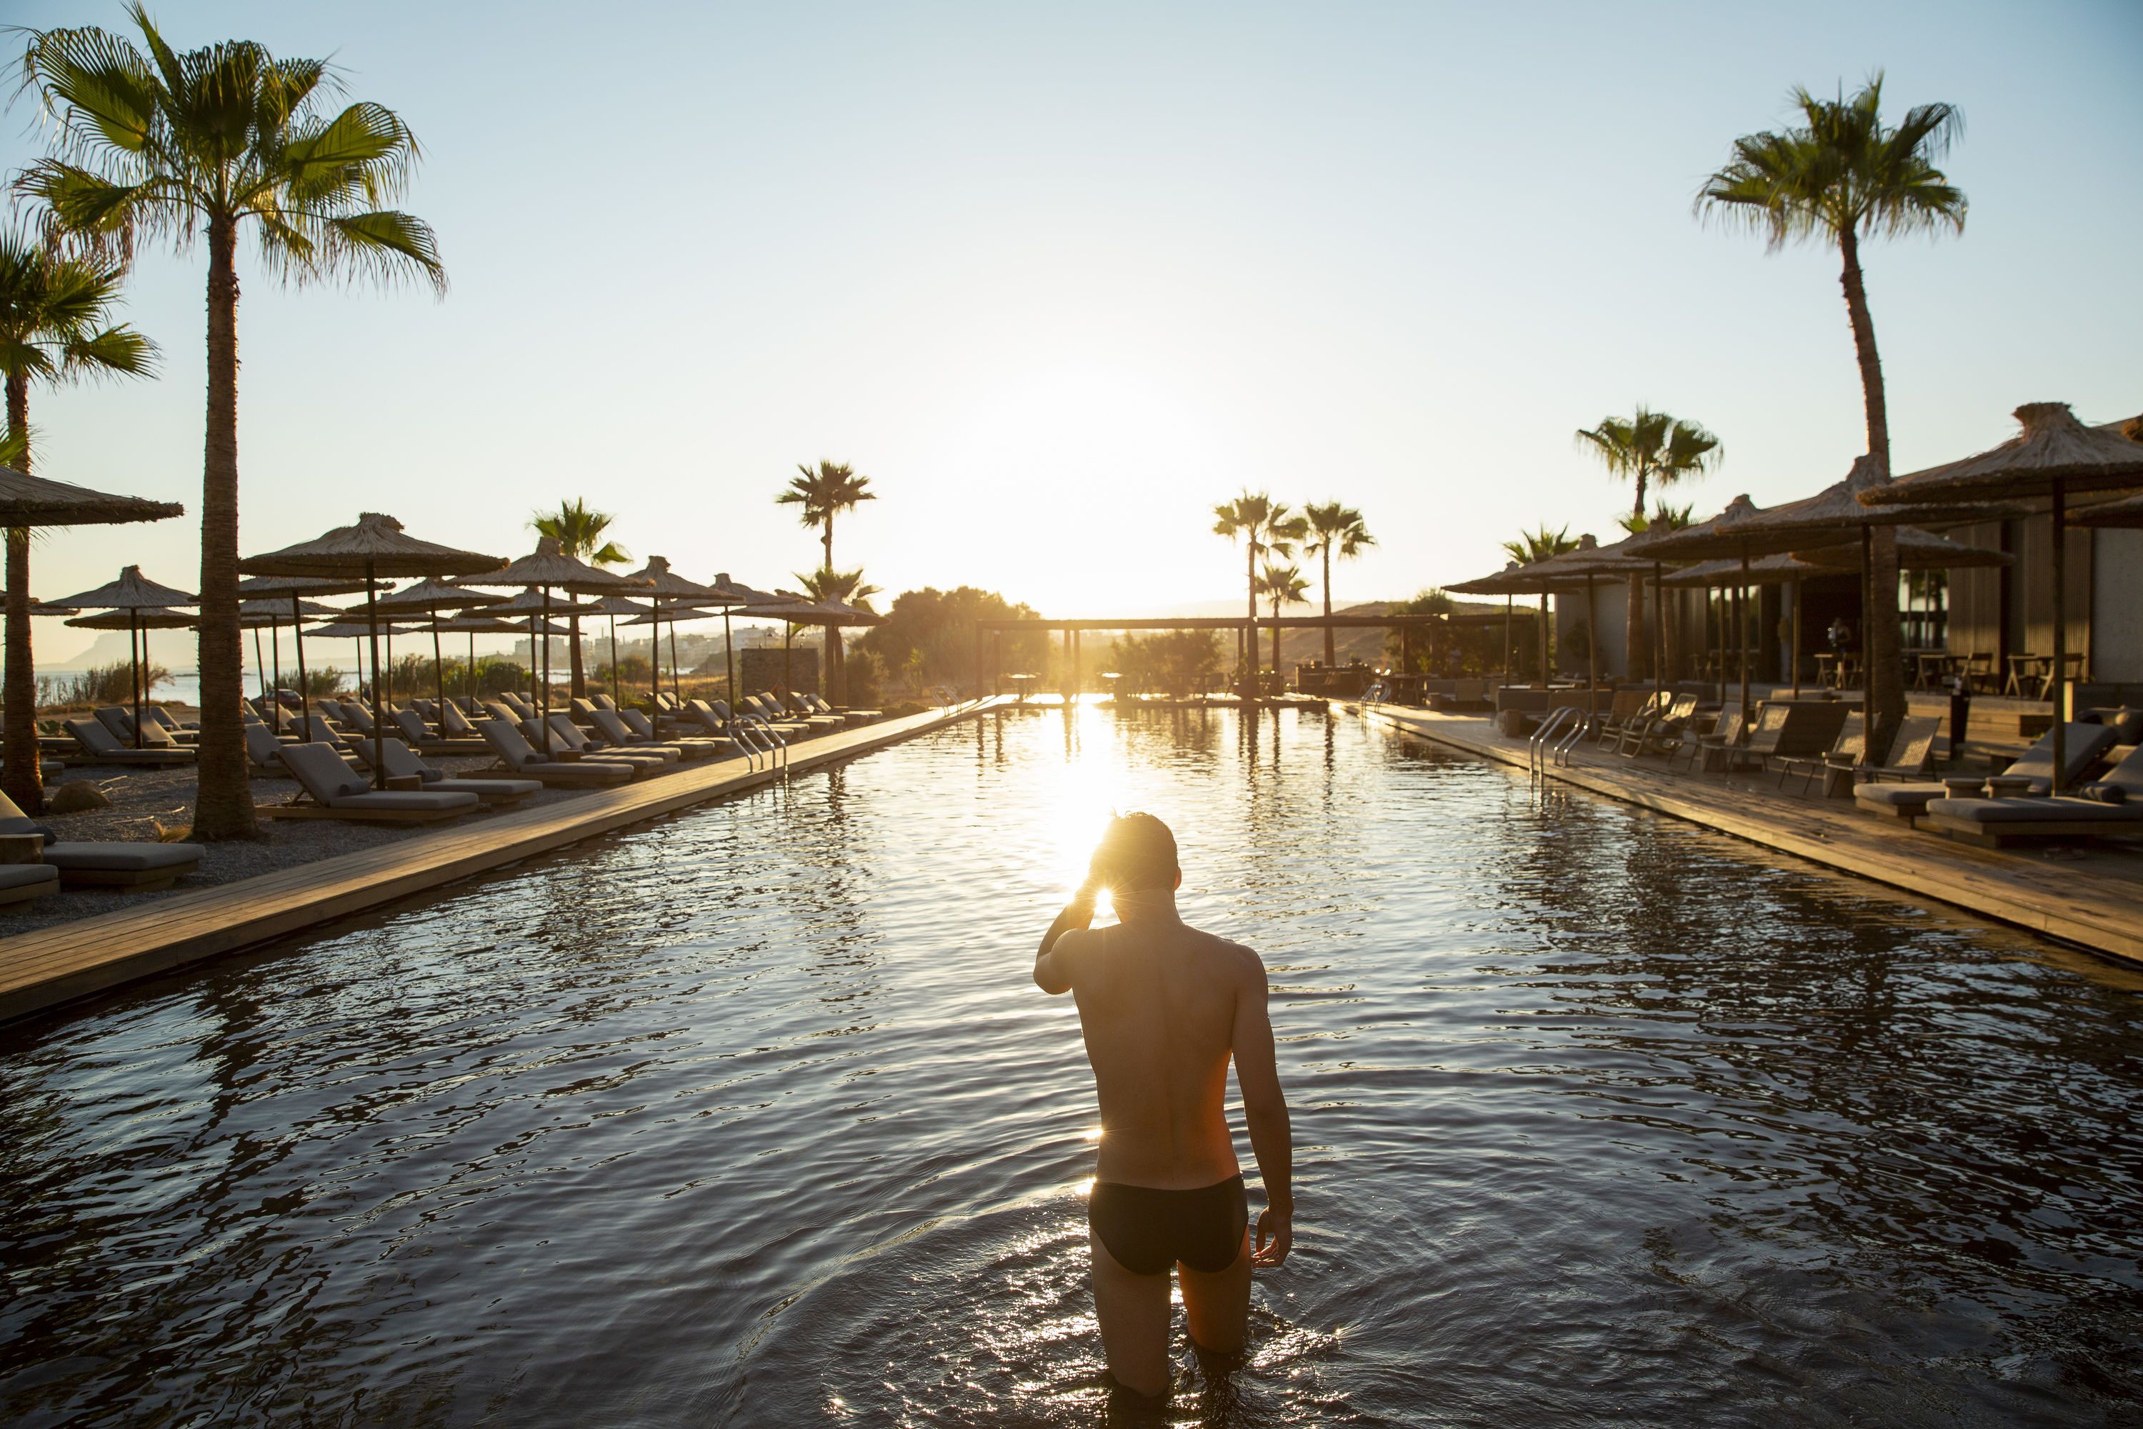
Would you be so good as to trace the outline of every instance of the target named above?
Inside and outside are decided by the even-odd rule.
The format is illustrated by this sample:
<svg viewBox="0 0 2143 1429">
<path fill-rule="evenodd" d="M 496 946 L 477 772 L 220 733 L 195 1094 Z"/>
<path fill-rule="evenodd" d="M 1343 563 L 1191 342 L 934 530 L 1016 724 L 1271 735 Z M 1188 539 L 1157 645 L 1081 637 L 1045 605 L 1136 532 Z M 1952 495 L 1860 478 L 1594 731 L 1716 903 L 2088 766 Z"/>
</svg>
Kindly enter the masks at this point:
<svg viewBox="0 0 2143 1429">
<path fill-rule="evenodd" d="M 1294 1153 L 1273 1067 L 1264 964 L 1177 917 L 1177 840 L 1153 814 L 1108 825 L 1093 870 L 1035 953 L 1035 986 L 1078 1001 L 1102 1101 L 1102 1155 L 1087 1202 L 1093 1307 L 1119 1384 L 1168 1390 L 1168 1270 L 1183 1283 L 1192 1341 L 1243 1348 L 1249 1268 L 1294 1243 Z M 1108 889 L 1114 928 L 1089 930 Z M 1243 1172 L 1222 1097 L 1228 1058 L 1258 1155 L 1267 1208 L 1249 1243 Z"/>
</svg>

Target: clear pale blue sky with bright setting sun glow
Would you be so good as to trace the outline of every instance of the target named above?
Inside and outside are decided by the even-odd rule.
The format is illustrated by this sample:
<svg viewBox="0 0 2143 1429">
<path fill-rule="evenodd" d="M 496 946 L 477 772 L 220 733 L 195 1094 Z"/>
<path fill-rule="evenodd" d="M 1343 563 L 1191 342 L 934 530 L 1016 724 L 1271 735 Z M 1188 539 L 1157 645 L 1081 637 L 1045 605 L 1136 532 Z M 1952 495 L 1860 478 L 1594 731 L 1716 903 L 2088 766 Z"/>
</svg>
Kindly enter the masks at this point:
<svg viewBox="0 0 2143 1429">
<path fill-rule="evenodd" d="M 6 0 L 32 24 L 118 4 Z M 452 291 L 244 276 L 242 548 L 386 510 L 529 548 L 585 495 L 692 576 L 816 563 L 774 495 L 879 501 L 836 559 L 1052 615 L 1241 589 L 1239 488 L 1342 497 L 1342 600 L 1500 566 L 1627 508 L 1571 439 L 1652 403 L 1723 437 L 1699 514 L 1862 450 L 1837 259 L 1691 195 L 1789 86 L 1950 101 L 1963 238 L 1867 255 L 1897 469 L 2023 401 L 2143 409 L 2143 6 L 152 4 L 180 47 L 332 56 L 426 148 Z M 19 99 L 0 163 L 41 152 Z M 186 501 L 51 533 L 36 591 L 195 583 L 204 255 L 139 264 L 163 377 L 39 396 L 47 476 Z M 1316 596 L 1316 591 L 1314 591 Z M 77 634 L 41 623 L 41 658 Z M 86 641 L 84 641 L 86 643 Z"/>
</svg>

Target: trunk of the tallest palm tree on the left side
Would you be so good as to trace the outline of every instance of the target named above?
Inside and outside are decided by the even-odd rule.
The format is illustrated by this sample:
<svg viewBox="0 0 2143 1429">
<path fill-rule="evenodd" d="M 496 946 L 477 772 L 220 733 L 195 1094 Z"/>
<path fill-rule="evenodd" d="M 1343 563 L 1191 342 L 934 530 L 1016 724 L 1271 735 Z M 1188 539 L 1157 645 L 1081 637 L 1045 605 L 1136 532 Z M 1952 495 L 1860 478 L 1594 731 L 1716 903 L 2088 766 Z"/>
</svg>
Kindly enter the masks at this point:
<svg viewBox="0 0 2143 1429">
<path fill-rule="evenodd" d="M 201 463 L 201 741 L 193 836 L 259 838 L 238 720 L 238 223 L 208 221 L 208 437 Z"/>
</svg>

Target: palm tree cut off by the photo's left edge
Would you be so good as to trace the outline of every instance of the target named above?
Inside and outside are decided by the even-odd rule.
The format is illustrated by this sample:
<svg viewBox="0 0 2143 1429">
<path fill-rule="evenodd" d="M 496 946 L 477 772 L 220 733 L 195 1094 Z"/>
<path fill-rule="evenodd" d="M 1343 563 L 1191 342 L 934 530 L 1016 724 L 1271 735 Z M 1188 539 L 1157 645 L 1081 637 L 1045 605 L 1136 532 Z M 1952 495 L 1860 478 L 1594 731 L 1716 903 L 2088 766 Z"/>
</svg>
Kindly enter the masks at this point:
<svg viewBox="0 0 2143 1429">
<path fill-rule="evenodd" d="M 19 229 L 0 234 L 0 377 L 6 379 L 6 437 L 0 465 L 30 469 L 30 383 L 49 386 L 124 373 L 146 377 L 156 345 L 111 321 L 120 266 L 66 257 Z M 36 671 L 30 664 L 30 529 L 6 531 L 6 677 L 0 741 L 30 750 L 9 758 L 0 788 L 34 814 L 45 806 L 36 773 Z"/>
</svg>

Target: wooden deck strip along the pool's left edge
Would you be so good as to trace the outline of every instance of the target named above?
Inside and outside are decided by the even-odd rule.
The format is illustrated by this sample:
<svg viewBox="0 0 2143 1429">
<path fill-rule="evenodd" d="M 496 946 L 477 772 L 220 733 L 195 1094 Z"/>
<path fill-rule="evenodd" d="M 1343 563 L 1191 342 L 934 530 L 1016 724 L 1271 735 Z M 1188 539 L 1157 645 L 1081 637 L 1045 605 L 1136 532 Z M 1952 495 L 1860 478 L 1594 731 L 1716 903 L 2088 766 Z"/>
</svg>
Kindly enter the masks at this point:
<svg viewBox="0 0 2143 1429">
<path fill-rule="evenodd" d="M 898 743 L 1001 703 L 1005 701 L 969 701 L 823 735 L 791 748 L 789 773 Z M 686 765 L 662 778 L 0 938 L 0 1020 L 304 932 L 778 778 L 778 769 L 746 771 L 739 761 Z"/>
</svg>

